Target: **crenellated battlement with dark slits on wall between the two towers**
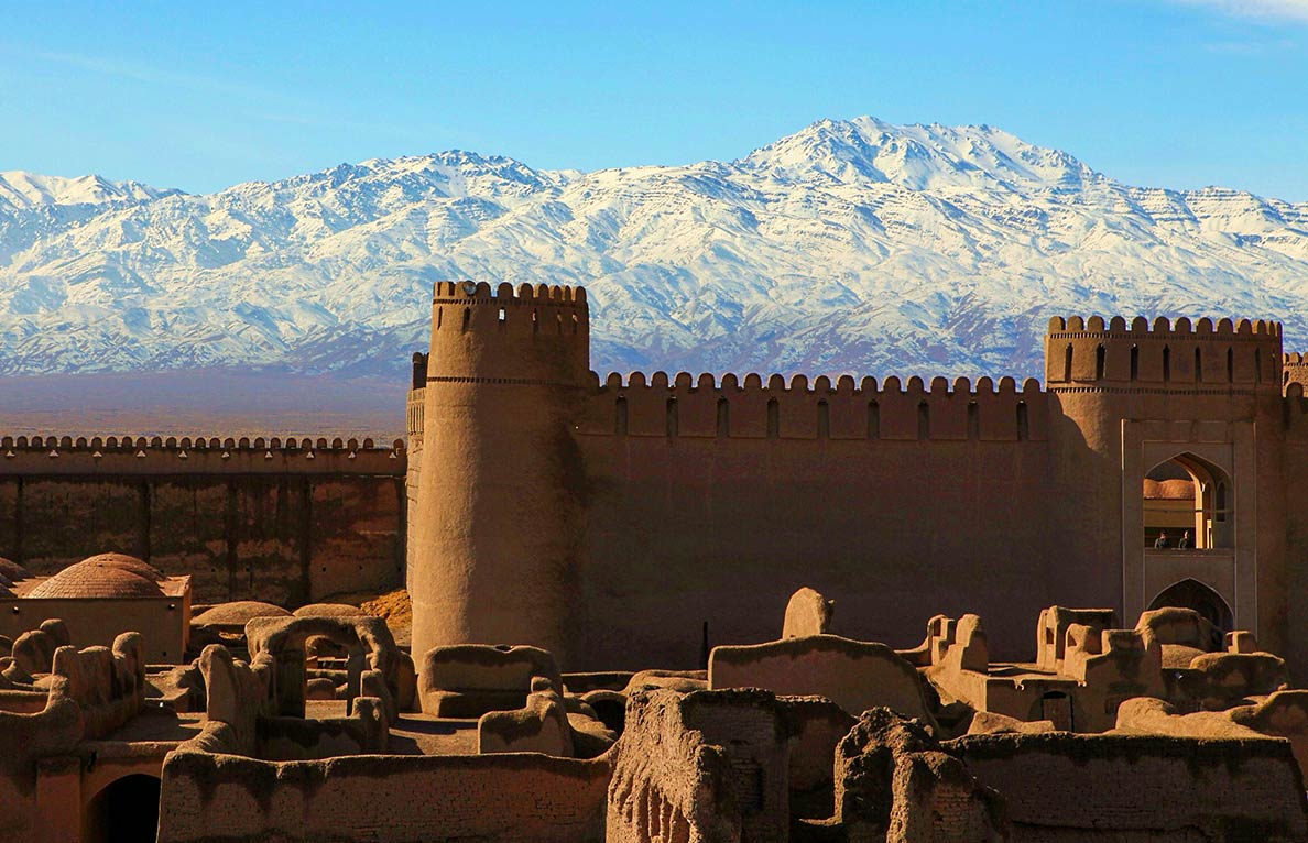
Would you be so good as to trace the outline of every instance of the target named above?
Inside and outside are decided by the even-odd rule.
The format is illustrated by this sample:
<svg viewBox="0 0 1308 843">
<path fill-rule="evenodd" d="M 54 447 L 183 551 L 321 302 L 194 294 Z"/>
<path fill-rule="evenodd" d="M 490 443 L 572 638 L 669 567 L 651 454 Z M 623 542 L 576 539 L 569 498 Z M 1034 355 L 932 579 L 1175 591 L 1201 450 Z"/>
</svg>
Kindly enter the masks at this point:
<svg viewBox="0 0 1308 843">
<path fill-rule="evenodd" d="M 1046 437 L 1046 395 L 1028 379 L 878 382 L 842 375 L 591 372 L 577 429 L 590 435 L 1018 442 Z"/>
</svg>

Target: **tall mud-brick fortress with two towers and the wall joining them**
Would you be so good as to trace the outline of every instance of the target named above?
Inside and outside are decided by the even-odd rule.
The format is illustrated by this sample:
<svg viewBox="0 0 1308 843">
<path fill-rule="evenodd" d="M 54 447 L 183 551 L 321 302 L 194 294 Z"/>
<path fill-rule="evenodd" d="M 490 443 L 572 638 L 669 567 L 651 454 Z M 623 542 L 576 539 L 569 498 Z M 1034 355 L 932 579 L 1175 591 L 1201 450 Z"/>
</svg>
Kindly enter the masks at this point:
<svg viewBox="0 0 1308 843">
<path fill-rule="evenodd" d="M 1099 316 L 1050 322 L 1044 384 L 600 378 L 585 290 L 441 282 L 408 410 L 413 651 L 691 664 L 812 584 L 863 639 L 977 612 L 1031 657 L 1042 606 L 1184 605 L 1301 668 L 1305 378 L 1273 322 Z"/>
</svg>

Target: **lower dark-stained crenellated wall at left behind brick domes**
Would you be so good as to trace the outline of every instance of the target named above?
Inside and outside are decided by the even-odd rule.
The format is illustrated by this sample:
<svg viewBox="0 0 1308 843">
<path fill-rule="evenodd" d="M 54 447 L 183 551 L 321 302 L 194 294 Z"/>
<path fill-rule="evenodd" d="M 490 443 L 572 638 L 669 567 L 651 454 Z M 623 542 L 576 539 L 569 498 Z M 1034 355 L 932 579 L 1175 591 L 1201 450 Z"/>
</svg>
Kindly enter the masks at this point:
<svg viewBox="0 0 1308 843">
<path fill-rule="evenodd" d="M 398 588 L 404 471 L 370 442 L 7 437 L 0 555 L 51 575 L 128 553 L 190 574 L 196 604 Z"/>
</svg>

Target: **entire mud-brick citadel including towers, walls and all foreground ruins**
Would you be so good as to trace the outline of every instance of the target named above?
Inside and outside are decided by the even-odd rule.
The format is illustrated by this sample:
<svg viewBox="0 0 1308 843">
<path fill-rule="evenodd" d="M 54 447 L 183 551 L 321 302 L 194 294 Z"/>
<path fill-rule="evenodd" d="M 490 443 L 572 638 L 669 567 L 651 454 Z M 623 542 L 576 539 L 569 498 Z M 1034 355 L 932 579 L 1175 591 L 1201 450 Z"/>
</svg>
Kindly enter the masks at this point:
<svg viewBox="0 0 1308 843">
<path fill-rule="evenodd" d="M 1046 361 L 602 380 L 583 290 L 441 282 L 407 443 L 3 438 L 0 833 L 1308 842 L 1308 362 Z"/>
</svg>

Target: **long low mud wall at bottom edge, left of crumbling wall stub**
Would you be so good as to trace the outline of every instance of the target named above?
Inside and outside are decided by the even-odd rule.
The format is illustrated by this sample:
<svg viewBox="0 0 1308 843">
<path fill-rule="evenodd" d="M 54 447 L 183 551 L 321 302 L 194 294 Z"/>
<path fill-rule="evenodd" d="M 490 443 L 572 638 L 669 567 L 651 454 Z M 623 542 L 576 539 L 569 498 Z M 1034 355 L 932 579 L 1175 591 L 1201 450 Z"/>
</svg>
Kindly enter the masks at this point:
<svg viewBox="0 0 1308 843">
<path fill-rule="evenodd" d="M 160 843 L 598 843 L 610 757 L 353 755 L 266 762 L 175 752 Z"/>
</svg>

